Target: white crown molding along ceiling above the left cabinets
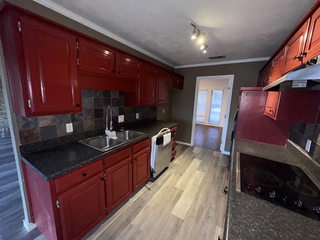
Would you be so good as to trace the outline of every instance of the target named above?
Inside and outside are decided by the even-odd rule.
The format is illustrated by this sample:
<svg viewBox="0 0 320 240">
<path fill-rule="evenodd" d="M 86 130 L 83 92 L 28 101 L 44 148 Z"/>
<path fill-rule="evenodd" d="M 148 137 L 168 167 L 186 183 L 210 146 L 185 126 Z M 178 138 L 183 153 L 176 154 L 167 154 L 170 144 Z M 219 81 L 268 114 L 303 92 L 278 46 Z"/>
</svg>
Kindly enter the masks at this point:
<svg viewBox="0 0 320 240">
<path fill-rule="evenodd" d="M 160 57 L 158 57 L 158 56 L 156 56 L 156 55 L 154 55 L 154 54 L 142 49 L 141 47 L 139 47 L 139 46 L 137 46 L 137 45 L 135 45 L 135 44 L 123 39 L 122 37 L 119 37 L 119 36 L 115 35 L 114 33 L 104 29 L 103 27 L 98 26 L 97 24 L 94 24 L 93 22 L 91 22 L 91 21 L 89 21 L 89 20 L 87 20 L 87 19 L 85 19 L 85 18 L 73 13 L 72 11 L 69 11 L 68 9 L 66 9 L 66 8 L 64 8 L 64 7 L 54 3 L 52 1 L 49 1 L 49 0 L 33 0 L 33 1 L 39 3 L 39 4 L 43 5 L 43 6 L 46 6 L 46 7 L 50 8 L 50 9 L 52 9 L 52 10 L 54 10 L 54 11 L 56 11 L 56 12 L 62 14 L 62 15 L 64 15 L 64 16 L 67 16 L 67 17 L 71 18 L 72 20 L 75 20 L 75 21 L 77 21 L 77 22 L 79 22 L 79 23 L 81 23 L 81 24 L 83 24 L 83 25 L 85 25 L 87 27 L 90 27 L 91 29 L 96 30 L 96 31 L 102 33 L 103 35 L 106 35 L 106 36 L 108 36 L 108 37 L 110 37 L 110 38 L 112 38 L 112 39 L 114 39 L 114 40 L 116 40 L 118 42 L 121 42 L 122 44 L 127 45 L 127 46 L 129 46 L 129 47 L 131 47 L 131 48 L 133 48 L 133 49 L 135 49 L 135 50 L 147 55 L 147 56 L 150 56 L 155 60 L 158 60 L 158 61 L 160 61 L 160 62 L 162 62 L 162 63 L 164 63 L 164 64 L 166 64 L 168 66 L 174 67 L 174 65 L 171 62 L 168 62 L 168 61 L 166 61 L 166 60 L 164 60 L 164 59 L 162 59 L 162 58 L 160 58 Z"/>
</svg>

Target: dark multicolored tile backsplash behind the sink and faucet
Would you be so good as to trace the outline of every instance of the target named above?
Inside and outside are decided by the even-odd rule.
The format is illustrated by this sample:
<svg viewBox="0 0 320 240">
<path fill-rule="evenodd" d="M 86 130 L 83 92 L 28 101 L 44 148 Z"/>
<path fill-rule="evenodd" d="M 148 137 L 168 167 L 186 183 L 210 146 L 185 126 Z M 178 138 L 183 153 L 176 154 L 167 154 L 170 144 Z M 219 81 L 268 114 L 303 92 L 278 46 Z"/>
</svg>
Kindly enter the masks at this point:
<svg viewBox="0 0 320 240">
<path fill-rule="evenodd" d="M 140 119 L 156 119 L 156 107 L 126 107 L 124 92 L 81 89 L 82 112 L 36 117 L 15 115 L 20 143 L 27 144 L 60 136 L 105 128 L 106 108 L 112 110 L 113 125 L 118 124 L 118 115 L 124 115 L 124 123 Z M 135 118 L 139 113 L 139 118 Z M 108 126 L 110 126 L 108 112 Z M 65 124 L 72 122 L 73 132 L 66 133 Z"/>
</svg>

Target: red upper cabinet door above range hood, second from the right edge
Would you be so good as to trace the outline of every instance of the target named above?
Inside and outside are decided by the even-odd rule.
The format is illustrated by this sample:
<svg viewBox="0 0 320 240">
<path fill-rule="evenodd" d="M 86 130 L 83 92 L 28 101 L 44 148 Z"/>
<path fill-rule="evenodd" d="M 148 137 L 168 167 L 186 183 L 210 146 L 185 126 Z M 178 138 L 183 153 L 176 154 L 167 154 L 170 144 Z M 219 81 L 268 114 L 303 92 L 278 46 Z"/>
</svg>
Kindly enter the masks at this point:
<svg viewBox="0 0 320 240">
<path fill-rule="evenodd" d="M 306 21 L 286 43 L 282 73 L 286 73 L 302 63 L 308 23 L 309 21 Z"/>
</svg>

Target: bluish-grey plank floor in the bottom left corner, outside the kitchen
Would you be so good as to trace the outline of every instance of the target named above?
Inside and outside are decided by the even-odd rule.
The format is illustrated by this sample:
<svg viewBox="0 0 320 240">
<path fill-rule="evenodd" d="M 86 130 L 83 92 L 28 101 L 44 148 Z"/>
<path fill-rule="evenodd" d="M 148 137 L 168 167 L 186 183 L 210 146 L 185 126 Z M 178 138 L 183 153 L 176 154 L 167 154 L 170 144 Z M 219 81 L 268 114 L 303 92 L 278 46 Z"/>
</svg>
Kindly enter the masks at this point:
<svg viewBox="0 0 320 240">
<path fill-rule="evenodd" d="M 0 138 L 0 240 L 40 240 L 40 231 L 23 226 L 23 208 L 10 137 Z M 42 238 L 43 239 L 43 238 Z"/>
</svg>

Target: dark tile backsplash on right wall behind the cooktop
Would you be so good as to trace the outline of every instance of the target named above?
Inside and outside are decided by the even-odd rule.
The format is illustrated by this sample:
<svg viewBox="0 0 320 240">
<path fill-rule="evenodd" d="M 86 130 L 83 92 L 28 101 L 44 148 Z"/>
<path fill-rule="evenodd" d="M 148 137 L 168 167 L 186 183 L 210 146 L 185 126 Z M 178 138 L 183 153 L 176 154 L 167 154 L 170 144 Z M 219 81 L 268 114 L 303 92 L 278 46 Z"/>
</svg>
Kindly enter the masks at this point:
<svg viewBox="0 0 320 240">
<path fill-rule="evenodd" d="M 320 164 L 320 113 L 315 124 L 293 122 L 289 139 L 299 145 L 303 150 L 307 139 L 311 140 L 310 151 L 304 151 Z"/>
</svg>

